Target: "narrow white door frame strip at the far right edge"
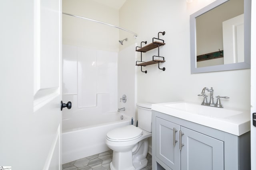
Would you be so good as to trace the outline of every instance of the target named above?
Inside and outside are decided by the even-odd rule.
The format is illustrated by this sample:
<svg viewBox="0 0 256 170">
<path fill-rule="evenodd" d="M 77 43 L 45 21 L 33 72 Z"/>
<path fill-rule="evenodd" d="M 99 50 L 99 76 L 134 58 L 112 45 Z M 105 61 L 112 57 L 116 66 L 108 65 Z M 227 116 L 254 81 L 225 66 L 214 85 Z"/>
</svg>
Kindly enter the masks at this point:
<svg viewBox="0 0 256 170">
<path fill-rule="evenodd" d="M 256 113 L 256 2 L 252 1 L 251 18 L 251 113 Z M 251 122 L 253 119 L 251 118 Z M 251 170 L 256 170 L 256 127 L 251 123 Z"/>
</svg>

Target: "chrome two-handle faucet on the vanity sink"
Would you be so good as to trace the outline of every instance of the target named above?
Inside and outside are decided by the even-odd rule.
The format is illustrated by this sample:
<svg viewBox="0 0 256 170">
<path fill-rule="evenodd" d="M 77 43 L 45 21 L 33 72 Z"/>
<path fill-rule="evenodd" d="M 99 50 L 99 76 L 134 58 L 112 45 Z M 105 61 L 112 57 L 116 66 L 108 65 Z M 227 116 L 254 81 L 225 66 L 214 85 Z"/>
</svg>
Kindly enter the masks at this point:
<svg viewBox="0 0 256 170">
<path fill-rule="evenodd" d="M 207 101 L 207 95 L 205 94 L 205 90 L 210 92 L 210 102 Z M 203 96 L 204 97 L 204 100 L 202 102 L 201 105 L 204 105 L 204 106 L 212 106 L 212 107 L 220 107 L 220 108 L 223 108 L 223 105 L 220 103 L 220 98 L 224 98 L 224 99 L 229 99 L 229 97 L 221 97 L 221 96 L 216 96 L 217 98 L 217 102 L 214 103 L 214 98 L 213 98 L 213 88 L 211 87 L 211 89 L 205 87 L 203 88 L 201 94 L 198 94 L 198 96 Z"/>
</svg>

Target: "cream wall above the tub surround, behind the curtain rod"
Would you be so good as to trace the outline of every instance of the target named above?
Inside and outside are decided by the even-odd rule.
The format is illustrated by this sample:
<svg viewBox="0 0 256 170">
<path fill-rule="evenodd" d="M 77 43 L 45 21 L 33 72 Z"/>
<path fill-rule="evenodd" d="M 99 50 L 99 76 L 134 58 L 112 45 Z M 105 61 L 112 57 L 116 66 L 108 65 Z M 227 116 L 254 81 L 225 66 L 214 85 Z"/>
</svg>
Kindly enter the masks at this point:
<svg viewBox="0 0 256 170">
<path fill-rule="evenodd" d="M 119 25 L 118 10 L 93 0 L 62 0 L 62 11 Z M 119 51 L 119 30 L 102 23 L 62 14 L 62 42 L 105 51 Z"/>
</svg>

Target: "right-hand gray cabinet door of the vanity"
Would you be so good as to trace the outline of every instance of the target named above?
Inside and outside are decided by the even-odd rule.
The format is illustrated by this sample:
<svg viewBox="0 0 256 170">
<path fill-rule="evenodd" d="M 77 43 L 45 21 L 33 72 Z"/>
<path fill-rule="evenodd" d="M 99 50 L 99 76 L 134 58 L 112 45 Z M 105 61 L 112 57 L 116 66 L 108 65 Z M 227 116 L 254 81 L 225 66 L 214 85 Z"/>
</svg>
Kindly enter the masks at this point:
<svg viewBox="0 0 256 170">
<path fill-rule="evenodd" d="M 224 142 L 185 127 L 182 133 L 181 170 L 224 170 Z"/>
</svg>

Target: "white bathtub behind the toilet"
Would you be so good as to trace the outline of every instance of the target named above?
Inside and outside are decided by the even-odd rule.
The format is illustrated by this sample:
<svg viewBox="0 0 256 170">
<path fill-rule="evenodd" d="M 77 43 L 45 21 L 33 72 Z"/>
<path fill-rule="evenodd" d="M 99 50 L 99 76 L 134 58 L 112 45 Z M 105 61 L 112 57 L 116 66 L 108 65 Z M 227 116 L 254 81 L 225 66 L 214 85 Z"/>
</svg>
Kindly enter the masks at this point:
<svg viewBox="0 0 256 170">
<path fill-rule="evenodd" d="M 63 119 L 62 164 L 109 150 L 105 144 L 108 131 L 130 124 L 131 117 L 120 112 L 88 115 L 86 120 Z"/>
</svg>

